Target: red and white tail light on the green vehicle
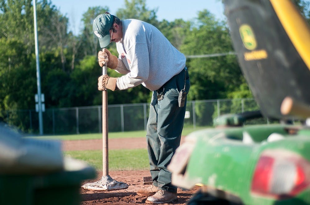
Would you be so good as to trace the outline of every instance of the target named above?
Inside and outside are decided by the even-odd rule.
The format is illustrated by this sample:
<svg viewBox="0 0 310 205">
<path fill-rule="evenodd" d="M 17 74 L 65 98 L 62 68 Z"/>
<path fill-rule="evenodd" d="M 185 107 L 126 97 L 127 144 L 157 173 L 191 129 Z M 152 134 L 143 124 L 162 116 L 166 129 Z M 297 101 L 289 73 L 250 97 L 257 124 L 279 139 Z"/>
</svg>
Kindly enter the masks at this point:
<svg viewBox="0 0 310 205">
<path fill-rule="evenodd" d="M 287 150 L 264 151 L 255 167 L 252 194 L 273 198 L 292 197 L 310 185 L 310 163 Z"/>
</svg>

